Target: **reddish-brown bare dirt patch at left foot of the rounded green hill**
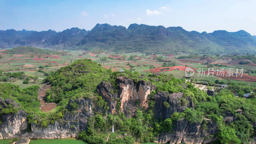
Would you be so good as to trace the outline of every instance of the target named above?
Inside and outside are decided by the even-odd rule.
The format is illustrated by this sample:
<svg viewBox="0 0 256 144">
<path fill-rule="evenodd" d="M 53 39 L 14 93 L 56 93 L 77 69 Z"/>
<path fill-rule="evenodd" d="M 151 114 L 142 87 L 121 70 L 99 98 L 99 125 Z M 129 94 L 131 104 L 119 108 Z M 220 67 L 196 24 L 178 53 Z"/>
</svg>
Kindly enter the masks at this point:
<svg viewBox="0 0 256 144">
<path fill-rule="evenodd" d="M 43 111 L 43 112 L 47 112 L 47 111 L 50 111 L 54 108 L 57 107 L 57 104 L 56 103 L 45 103 L 44 102 L 44 97 L 45 97 L 45 93 L 48 89 L 50 89 L 51 87 L 51 84 L 49 83 L 46 83 L 46 84 L 43 84 L 39 90 L 38 90 L 38 99 L 40 100 L 40 104 L 41 104 L 41 107 L 40 109 Z"/>
</svg>

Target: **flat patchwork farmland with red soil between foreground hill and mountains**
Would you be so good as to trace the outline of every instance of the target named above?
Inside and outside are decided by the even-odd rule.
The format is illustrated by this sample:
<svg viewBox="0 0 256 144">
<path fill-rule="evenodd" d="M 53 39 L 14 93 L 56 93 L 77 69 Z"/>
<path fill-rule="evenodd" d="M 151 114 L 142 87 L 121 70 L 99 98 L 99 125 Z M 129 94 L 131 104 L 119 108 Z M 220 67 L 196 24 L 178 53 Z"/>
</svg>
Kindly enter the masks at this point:
<svg viewBox="0 0 256 144">
<path fill-rule="evenodd" d="M 187 59 L 176 59 L 179 55 L 173 54 L 145 54 L 140 52 L 134 53 L 122 53 L 118 54 L 115 52 L 101 52 L 92 51 L 86 52 L 84 50 L 73 51 L 73 50 L 57 50 L 51 51 L 51 54 L 36 54 L 36 53 L 26 53 L 26 54 L 8 54 L 1 51 L 0 55 L 3 56 L 0 59 L 0 71 L 2 72 L 12 72 L 12 71 L 24 71 L 25 76 L 37 76 L 39 77 L 38 83 L 22 84 L 23 80 L 17 80 L 10 82 L 12 84 L 17 84 L 21 88 L 28 87 L 30 85 L 40 85 L 40 82 L 47 77 L 42 72 L 38 72 L 39 67 L 43 69 L 44 72 L 50 73 L 56 71 L 60 67 L 67 66 L 68 64 L 79 59 L 91 59 L 92 61 L 98 62 L 103 68 L 111 68 L 112 71 L 119 71 L 121 69 L 127 69 L 131 71 L 138 71 L 141 74 L 147 75 L 148 73 L 162 73 L 173 75 L 178 78 L 185 77 L 185 69 L 187 67 L 194 69 L 195 74 L 191 76 L 191 79 L 206 80 L 209 82 L 214 82 L 219 79 L 220 81 L 227 82 L 230 79 L 232 82 L 239 84 L 249 84 L 255 85 L 256 83 L 256 73 L 244 74 L 244 77 L 221 77 L 221 76 L 197 76 L 198 73 L 204 69 L 216 71 L 217 69 L 224 69 L 226 71 L 228 68 L 244 68 L 244 72 L 250 70 L 256 70 L 256 64 L 247 65 L 232 65 L 222 64 L 214 66 L 212 64 L 205 64 L 204 60 L 187 58 Z M 182 53 L 181 55 L 187 56 L 187 54 Z M 162 56 L 161 60 L 156 58 Z M 255 66 L 254 66 L 255 65 Z M 253 69 L 255 68 L 255 69 Z M 178 69 L 178 70 L 175 70 Z M 207 73 L 207 72 L 206 72 Z M 226 74 L 226 72 L 225 72 Z M 3 76 L 0 76 L 0 78 Z"/>
</svg>

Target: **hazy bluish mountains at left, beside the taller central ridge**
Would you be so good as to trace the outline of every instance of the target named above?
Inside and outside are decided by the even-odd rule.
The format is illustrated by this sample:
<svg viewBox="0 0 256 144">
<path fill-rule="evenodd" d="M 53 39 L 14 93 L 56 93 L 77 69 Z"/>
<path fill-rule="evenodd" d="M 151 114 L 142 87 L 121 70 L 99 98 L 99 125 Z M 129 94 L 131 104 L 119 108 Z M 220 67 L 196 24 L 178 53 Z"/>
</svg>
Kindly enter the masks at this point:
<svg viewBox="0 0 256 144">
<path fill-rule="evenodd" d="M 89 31 L 79 28 L 66 29 L 62 32 L 48 31 L 16 31 L 0 30 L 0 47 L 44 46 L 72 48 L 86 36 Z"/>
</svg>

